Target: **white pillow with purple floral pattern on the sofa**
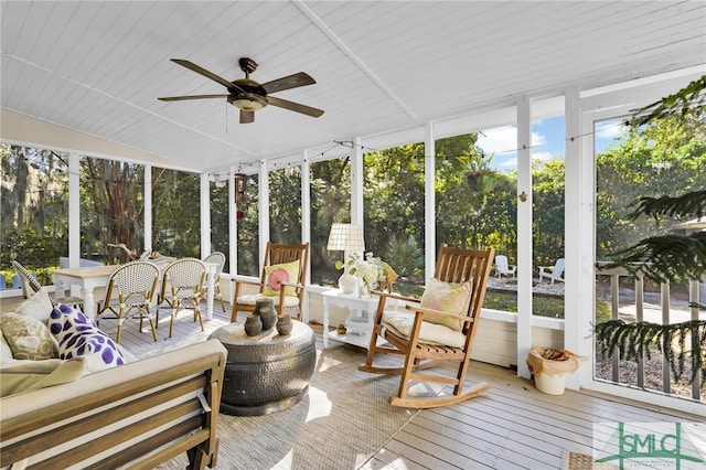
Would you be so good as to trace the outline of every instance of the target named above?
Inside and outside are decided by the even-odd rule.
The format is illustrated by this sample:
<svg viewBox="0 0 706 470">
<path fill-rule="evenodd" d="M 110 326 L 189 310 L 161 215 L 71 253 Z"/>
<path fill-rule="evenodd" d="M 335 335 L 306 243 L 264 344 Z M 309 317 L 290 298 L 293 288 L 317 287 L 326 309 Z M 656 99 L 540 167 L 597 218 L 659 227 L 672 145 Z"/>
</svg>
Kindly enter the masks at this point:
<svg viewBox="0 0 706 470">
<path fill-rule="evenodd" d="M 90 355 L 99 368 L 125 364 L 125 356 L 103 331 L 83 312 L 60 305 L 52 310 L 47 327 L 58 342 L 58 359 Z"/>
</svg>

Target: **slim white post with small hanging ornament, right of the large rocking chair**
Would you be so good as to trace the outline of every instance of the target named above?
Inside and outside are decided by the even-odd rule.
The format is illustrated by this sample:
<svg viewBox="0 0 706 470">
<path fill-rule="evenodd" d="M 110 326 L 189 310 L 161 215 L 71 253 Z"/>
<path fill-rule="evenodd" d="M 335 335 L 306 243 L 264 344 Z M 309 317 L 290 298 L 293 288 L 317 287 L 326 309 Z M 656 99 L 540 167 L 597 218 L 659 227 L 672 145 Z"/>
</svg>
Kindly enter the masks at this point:
<svg viewBox="0 0 706 470">
<path fill-rule="evenodd" d="M 517 375 L 532 349 L 532 105 L 517 102 Z M 523 201 L 524 200 L 524 201 Z"/>
</svg>

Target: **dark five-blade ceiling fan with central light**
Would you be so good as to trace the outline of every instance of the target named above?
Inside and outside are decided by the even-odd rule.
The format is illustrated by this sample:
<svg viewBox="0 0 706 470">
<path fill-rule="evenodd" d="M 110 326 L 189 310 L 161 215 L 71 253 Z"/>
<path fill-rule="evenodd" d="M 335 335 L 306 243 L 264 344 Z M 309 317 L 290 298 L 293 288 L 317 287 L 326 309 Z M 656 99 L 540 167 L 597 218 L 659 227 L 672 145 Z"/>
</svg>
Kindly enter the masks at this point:
<svg viewBox="0 0 706 470">
<path fill-rule="evenodd" d="M 274 79 L 264 84 L 259 84 L 250 79 L 250 74 L 257 68 L 257 63 L 249 57 L 240 57 L 238 65 L 240 70 L 245 72 L 245 78 L 237 78 L 233 82 L 208 72 L 207 70 L 192 63 L 184 61 L 183 58 L 172 58 L 172 62 L 178 63 L 191 71 L 196 72 L 214 82 L 218 82 L 225 86 L 228 90 L 227 95 L 192 95 L 192 96 L 167 96 L 163 98 L 157 98 L 162 102 L 181 102 L 184 99 L 210 99 L 210 98 L 226 98 L 229 104 L 240 109 L 240 124 L 254 122 L 255 111 L 264 108 L 267 105 L 277 106 L 280 108 L 289 109 L 304 114 L 307 116 L 319 117 L 323 114 L 323 110 L 312 108 L 299 103 L 288 102 L 287 99 L 276 98 L 269 96 L 270 93 L 281 92 L 284 89 L 297 88 L 300 86 L 312 85 L 317 83 L 311 76 L 303 72 L 299 72 L 293 75 Z"/>
</svg>

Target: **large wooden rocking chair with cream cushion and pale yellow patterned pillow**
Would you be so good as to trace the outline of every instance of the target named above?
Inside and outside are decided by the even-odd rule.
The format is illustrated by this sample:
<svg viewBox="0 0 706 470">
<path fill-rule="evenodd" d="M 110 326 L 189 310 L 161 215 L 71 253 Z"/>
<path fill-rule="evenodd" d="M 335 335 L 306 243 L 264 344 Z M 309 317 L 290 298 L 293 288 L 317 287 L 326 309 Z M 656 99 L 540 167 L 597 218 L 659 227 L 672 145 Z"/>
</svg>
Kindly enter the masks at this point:
<svg viewBox="0 0 706 470">
<path fill-rule="evenodd" d="M 443 244 L 439 250 L 435 279 L 430 286 L 427 286 L 421 299 L 376 292 L 381 295 L 381 299 L 367 359 L 359 370 L 402 375 L 397 395 L 388 399 L 391 405 L 413 408 L 446 406 L 490 389 L 490 385 L 481 383 L 464 392 L 463 385 L 494 252 L 493 248 L 484 250 L 451 248 Z M 436 289 L 436 301 L 432 288 Z M 466 290 L 466 293 L 460 293 L 460 290 Z M 449 296 L 443 298 L 443 292 L 449 292 Z M 443 310 L 425 307 L 425 305 L 445 303 L 449 297 L 457 297 L 456 306 L 462 306 L 460 314 L 450 313 L 448 310 L 452 308 L 449 309 L 448 306 L 442 307 Z M 386 310 L 385 301 L 388 298 L 406 301 L 407 310 L 411 311 Z M 459 330 L 456 330 L 457 325 Z M 393 348 L 377 345 L 377 337 L 384 338 Z M 404 365 L 402 367 L 373 365 L 376 353 L 405 355 Z M 458 363 L 454 377 L 417 372 L 442 361 Z M 413 381 L 453 385 L 453 395 L 408 396 L 408 388 Z"/>
</svg>

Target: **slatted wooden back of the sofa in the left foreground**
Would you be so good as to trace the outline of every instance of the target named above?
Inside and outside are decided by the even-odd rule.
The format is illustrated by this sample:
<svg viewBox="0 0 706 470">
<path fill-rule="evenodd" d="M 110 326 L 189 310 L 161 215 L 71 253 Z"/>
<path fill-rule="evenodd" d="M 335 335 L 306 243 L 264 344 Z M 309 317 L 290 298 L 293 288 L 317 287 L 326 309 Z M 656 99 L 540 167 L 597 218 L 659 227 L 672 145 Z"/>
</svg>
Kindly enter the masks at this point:
<svg viewBox="0 0 706 470">
<path fill-rule="evenodd" d="M 0 467 L 216 464 L 226 351 L 216 340 L 0 399 Z"/>
</svg>

